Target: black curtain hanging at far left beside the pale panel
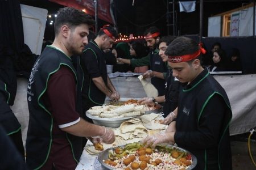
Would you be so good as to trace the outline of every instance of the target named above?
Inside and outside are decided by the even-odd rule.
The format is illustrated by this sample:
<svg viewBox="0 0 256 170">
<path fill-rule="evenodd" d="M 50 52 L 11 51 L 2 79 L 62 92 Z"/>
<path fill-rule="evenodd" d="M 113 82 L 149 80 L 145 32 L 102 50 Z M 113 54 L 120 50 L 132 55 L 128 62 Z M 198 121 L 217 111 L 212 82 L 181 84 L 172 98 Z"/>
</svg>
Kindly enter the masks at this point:
<svg viewBox="0 0 256 170">
<path fill-rule="evenodd" d="M 19 0 L 0 0 L 0 80 L 10 92 L 10 105 L 16 96 L 16 75 L 28 78 L 35 59 L 24 44 Z"/>
</svg>

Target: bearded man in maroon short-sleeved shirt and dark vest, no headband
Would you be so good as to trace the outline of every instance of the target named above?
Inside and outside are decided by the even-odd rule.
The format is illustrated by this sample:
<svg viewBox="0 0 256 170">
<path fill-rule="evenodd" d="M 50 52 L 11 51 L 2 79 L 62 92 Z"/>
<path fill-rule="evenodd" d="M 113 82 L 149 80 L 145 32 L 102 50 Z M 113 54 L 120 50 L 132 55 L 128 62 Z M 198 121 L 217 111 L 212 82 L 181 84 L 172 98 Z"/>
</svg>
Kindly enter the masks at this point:
<svg viewBox="0 0 256 170">
<path fill-rule="evenodd" d="M 114 133 L 82 119 L 78 105 L 82 81 L 71 56 L 88 43 L 94 20 L 81 10 L 61 8 L 55 19 L 55 40 L 32 68 L 27 100 L 27 165 L 30 169 L 75 169 L 82 153 L 82 138 L 113 143 Z"/>
</svg>

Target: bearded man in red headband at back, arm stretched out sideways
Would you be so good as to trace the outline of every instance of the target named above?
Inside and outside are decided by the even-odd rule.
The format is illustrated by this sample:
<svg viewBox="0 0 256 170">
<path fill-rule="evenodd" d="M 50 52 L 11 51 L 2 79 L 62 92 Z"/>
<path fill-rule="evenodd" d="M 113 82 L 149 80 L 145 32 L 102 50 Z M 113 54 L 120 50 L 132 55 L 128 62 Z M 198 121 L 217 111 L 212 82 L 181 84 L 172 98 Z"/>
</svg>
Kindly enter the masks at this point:
<svg viewBox="0 0 256 170">
<path fill-rule="evenodd" d="M 160 32 L 156 27 L 150 27 L 144 32 L 144 38 L 147 42 L 148 48 L 151 52 L 146 57 L 140 59 L 123 59 L 117 58 L 118 62 L 128 63 L 132 67 L 150 66 L 151 70 L 148 70 L 143 74 L 143 78 L 151 78 L 151 83 L 158 90 L 158 96 L 164 95 L 164 74 L 168 70 L 168 63 L 163 62 L 159 57 L 159 49 L 156 48 L 159 41 Z"/>
</svg>

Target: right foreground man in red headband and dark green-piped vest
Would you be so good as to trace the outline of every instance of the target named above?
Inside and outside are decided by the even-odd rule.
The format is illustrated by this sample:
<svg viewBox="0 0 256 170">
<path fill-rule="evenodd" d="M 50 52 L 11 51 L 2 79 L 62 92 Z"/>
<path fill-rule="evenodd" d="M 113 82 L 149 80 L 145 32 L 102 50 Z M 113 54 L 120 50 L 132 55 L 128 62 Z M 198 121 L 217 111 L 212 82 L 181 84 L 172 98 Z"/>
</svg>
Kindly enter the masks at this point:
<svg viewBox="0 0 256 170">
<path fill-rule="evenodd" d="M 195 169 L 232 169 L 229 122 L 232 118 L 225 90 L 201 66 L 205 50 L 187 37 L 168 46 L 169 65 L 180 82 L 187 82 L 179 94 L 177 118 L 164 133 L 147 137 L 148 145 L 176 143 L 197 158 Z"/>
</svg>

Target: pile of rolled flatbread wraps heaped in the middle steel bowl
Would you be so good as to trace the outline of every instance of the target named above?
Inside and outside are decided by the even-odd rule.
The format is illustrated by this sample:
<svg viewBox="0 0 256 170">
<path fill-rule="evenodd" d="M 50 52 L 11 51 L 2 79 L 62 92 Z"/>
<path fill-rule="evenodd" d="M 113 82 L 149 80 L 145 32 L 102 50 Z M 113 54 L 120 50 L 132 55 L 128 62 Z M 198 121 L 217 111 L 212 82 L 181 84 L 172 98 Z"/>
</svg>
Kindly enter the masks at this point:
<svg viewBox="0 0 256 170">
<path fill-rule="evenodd" d="M 92 116 L 112 118 L 112 117 L 133 117 L 146 112 L 145 105 L 127 104 L 120 107 L 114 105 L 104 105 L 92 107 L 87 111 Z"/>
</svg>

